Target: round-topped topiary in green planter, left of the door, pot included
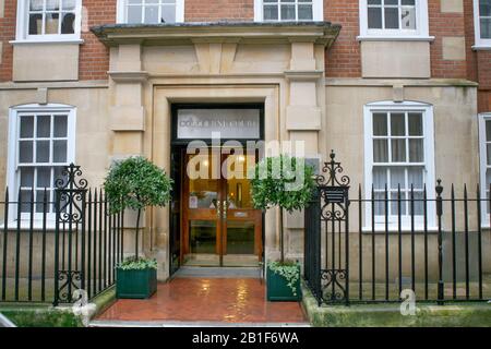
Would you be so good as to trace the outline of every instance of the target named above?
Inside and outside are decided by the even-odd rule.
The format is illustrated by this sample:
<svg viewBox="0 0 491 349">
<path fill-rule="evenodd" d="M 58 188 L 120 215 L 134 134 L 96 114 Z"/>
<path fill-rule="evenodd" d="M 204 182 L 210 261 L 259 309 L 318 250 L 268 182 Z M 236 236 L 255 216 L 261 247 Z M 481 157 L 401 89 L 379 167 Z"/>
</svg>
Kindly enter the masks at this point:
<svg viewBox="0 0 491 349">
<path fill-rule="evenodd" d="M 140 219 L 146 207 L 164 207 L 171 188 L 166 172 L 141 156 L 116 161 L 109 170 L 104 189 L 111 213 L 136 210 L 134 256 L 117 266 L 118 298 L 148 298 L 156 291 L 157 262 L 139 256 Z"/>
</svg>

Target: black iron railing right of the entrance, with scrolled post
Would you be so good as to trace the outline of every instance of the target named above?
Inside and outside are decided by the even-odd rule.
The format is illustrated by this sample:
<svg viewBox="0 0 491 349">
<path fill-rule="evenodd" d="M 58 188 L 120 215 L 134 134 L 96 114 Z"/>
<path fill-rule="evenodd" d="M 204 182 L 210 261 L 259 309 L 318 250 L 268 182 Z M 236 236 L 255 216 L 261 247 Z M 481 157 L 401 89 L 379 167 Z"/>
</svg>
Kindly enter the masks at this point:
<svg viewBox="0 0 491 349">
<path fill-rule="evenodd" d="M 332 159 L 306 209 L 304 277 L 319 303 L 491 299 L 491 200 L 479 185 L 349 197 Z M 370 195 L 371 194 L 371 195 Z"/>
</svg>

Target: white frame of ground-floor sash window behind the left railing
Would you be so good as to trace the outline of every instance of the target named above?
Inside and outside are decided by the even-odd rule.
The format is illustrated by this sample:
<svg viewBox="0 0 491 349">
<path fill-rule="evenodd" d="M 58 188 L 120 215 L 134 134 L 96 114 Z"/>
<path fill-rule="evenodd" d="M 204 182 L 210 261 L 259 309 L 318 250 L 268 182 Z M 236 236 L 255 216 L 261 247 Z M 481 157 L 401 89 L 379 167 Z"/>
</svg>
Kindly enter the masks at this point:
<svg viewBox="0 0 491 349">
<path fill-rule="evenodd" d="M 19 135 L 20 135 L 20 119 L 23 115 L 34 113 L 34 115 L 60 115 L 64 113 L 68 116 L 67 122 L 67 161 L 63 163 L 69 165 L 75 163 L 75 133 L 76 133 L 76 107 L 61 104 L 28 104 L 11 107 L 9 109 L 9 142 L 8 142 L 8 169 L 7 169 L 7 185 L 10 190 L 10 201 L 19 201 L 19 188 L 20 188 L 20 172 L 19 172 Z M 50 137 L 51 139 L 51 137 Z M 60 163 L 61 164 L 61 163 Z M 53 163 L 47 163 L 47 166 L 53 167 Z M 60 165 L 65 166 L 65 165 Z M 35 166 L 34 166 L 35 167 Z M 48 227 L 52 226 L 55 222 L 55 213 L 47 214 Z M 27 225 L 29 219 L 29 214 L 21 213 L 21 226 Z M 34 215 L 34 227 L 39 227 L 41 225 L 43 214 L 35 213 Z M 16 215 L 14 212 L 9 214 L 9 222 L 16 221 Z"/>
</svg>

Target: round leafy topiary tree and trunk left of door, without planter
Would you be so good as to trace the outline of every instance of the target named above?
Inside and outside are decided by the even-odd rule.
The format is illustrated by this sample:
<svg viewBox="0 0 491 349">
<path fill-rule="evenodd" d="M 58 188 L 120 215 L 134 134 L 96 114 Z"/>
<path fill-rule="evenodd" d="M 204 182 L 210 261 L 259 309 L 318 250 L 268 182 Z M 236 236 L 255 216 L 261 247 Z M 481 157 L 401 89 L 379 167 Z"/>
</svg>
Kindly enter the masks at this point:
<svg viewBox="0 0 491 349">
<path fill-rule="evenodd" d="M 142 210 L 164 207 L 170 201 L 173 181 L 166 172 L 142 156 L 116 161 L 104 182 L 106 198 L 112 213 L 127 208 L 137 210 L 135 257 L 139 258 L 139 230 Z"/>
</svg>

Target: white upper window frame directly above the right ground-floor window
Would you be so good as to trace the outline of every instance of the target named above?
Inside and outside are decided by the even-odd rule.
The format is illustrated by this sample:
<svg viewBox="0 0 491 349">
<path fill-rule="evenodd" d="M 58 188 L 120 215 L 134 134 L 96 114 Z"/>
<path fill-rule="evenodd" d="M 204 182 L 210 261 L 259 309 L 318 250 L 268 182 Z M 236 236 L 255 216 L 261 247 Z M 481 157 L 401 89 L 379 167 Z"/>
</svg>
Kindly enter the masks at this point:
<svg viewBox="0 0 491 349">
<path fill-rule="evenodd" d="M 368 27 L 368 0 L 359 0 L 360 36 L 359 40 L 433 40 L 429 32 L 428 0 L 416 0 L 416 29 L 370 29 Z"/>
</svg>

